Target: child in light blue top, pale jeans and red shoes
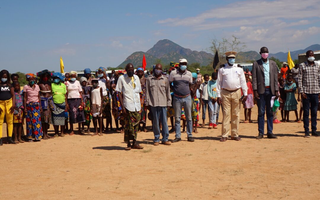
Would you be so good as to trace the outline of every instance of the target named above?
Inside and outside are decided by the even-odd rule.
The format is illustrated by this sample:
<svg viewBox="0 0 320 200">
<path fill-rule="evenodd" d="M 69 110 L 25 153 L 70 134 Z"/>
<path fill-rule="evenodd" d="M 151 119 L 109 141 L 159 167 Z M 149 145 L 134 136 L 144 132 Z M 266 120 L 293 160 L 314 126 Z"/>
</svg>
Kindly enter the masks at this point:
<svg viewBox="0 0 320 200">
<path fill-rule="evenodd" d="M 208 110 L 209 110 L 209 129 L 217 128 L 217 78 L 218 73 L 213 72 L 211 75 L 211 81 L 208 83 L 207 91 L 208 91 Z"/>
</svg>

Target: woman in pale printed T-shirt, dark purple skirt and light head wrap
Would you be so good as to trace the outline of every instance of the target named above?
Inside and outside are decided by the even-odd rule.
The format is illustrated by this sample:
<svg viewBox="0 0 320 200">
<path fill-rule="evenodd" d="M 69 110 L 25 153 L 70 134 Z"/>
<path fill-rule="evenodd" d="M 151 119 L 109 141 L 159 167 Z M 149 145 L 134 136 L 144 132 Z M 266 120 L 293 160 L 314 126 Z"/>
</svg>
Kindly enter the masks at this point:
<svg viewBox="0 0 320 200">
<path fill-rule="evenodd" d="M 76 80 L 77 73 L 70 71 L 70 80 L 66 82 L 68 98 L 66 99 L 66 108 L 69 111 L 69 122 L 71 132 L 69 135 L 73 135 L 73 124 L 78 123 L 78 134 L 81 134 L 81 123 L 84 119 L 84 102 L 82 99 L 82 86 L 78 80 Z"/>
</svg>

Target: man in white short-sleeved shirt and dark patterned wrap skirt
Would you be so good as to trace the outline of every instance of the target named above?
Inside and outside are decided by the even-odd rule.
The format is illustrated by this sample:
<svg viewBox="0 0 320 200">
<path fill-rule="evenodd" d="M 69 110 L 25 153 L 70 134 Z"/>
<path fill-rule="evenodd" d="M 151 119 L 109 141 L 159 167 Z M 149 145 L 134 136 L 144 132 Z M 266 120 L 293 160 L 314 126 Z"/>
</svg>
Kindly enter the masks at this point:
<svg viewBox="0 0 320 200">
<path fill-rule="evenodd" d="M 137 75 L 134 75 L 132 63 L 128 63 L 125 67 L 127 74 L 118 78 L 116 91 L 119 93 L 119 101 L 124 115 L 124 141 L 128 142 L 125 150 L 143 149 L 139 144 L 136 144 L 138 125 L 141 119 L 139 111 L 141 109 L 140 92 L 141 84 Z M 130 144 L 132 140 L 132 145 Z"/>
</svg>

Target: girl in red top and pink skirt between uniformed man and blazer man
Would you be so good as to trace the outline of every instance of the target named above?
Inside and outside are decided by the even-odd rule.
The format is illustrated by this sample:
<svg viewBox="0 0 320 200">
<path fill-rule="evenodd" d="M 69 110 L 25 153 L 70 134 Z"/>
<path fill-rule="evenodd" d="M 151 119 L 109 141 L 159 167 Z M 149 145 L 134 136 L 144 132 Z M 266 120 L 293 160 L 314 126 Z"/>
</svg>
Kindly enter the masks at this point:
<svg viewBox="0 0 320 200">
<path fill-rule="evenodd" d="M 248 70 L 249 71 L 249 70 Z M 250 82 L 250 76 L 249 74 L 245 74 L 245 80 L 247 82 L 247 87 L 248 87 L 248 98 L 245 102 L 243 102 L 243 107 L 244 107 L 244 123 L 252 123 L 251 120 L 251 108 L 254 107 L 253 104 L 253 89 L 252 89 L 252 84 Z M 242 89 L 241 89 L 241 95 L 243 95 Z"/>
</svg>

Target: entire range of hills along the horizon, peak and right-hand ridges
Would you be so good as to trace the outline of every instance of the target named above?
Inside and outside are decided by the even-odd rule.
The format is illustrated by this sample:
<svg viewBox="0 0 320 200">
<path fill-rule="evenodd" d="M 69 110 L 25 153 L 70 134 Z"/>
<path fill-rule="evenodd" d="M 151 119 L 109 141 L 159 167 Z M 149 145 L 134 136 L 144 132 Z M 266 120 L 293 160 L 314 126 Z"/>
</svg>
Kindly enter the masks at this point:
<svg viewBox="0 0 320 200">
<path fill-rule="evenodd" d="M 291 58 L 298 59 L 298 54 L 305 53 L 307 50 L 317 51 L 320 50 L 319 44 L 313 44 L 303 50 L 297 50 L 290 52 Z M 143 54 L 145 54 L 147 67 L 150 67 L 156 63 L 157 59 L 160 59 L 162 63 L 169 64 L 171 61 L 178 62 L 179 59 L 185 58 L 191 63 L 200 63 L 200 66 L 207 66 L 213 59 L 213 54 L 204 51 L 192 51 L 191 49 L 184 48 L 168 39 L 159 40 L 151 49 L 147 52 L 134 52 L 128 56 L 118 67 L 125 68 L 125 65 L 129 62 L 134 66 L 142 65 Z M 248 51 L 239 52 L 245 60 L 258 60 L 261 58 L 259 52 Z M 288 52 L 269 53 L 269 57 L 275 57 L 280 61 L 287 61 Z"/>
</svg>

